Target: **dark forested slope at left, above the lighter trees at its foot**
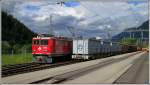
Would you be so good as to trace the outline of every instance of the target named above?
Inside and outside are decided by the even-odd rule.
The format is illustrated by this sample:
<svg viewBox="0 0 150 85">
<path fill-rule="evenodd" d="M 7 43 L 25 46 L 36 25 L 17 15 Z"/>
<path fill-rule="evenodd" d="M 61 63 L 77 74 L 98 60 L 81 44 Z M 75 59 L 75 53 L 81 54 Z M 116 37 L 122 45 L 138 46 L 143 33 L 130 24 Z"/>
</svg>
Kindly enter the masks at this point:
<svg viewBox="0 0 150 85">
<path fill-rule="evenodd" d="M 7 41 L 10 45 L 29 44 L 36 35 L 12 15 L 2 12 L 2 41 Z"/>
</svg>

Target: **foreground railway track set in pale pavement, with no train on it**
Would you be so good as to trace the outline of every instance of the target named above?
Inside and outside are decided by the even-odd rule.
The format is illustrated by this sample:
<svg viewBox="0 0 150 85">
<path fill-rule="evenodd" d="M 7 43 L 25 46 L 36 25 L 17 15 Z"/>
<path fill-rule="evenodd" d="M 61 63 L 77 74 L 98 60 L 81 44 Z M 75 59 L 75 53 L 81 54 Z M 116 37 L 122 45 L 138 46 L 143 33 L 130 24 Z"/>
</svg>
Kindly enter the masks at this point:
<svg viewBox="0 0 150 85">
<path fill-rule="evenodd" d="M 88 74 L 89 72 L 95 71 L 95 70 L 102 68 L 104 66 L 107 66 L 107 65 L 110 65 L 113 63 L 117 63 L 117 62 L 121 62 L 124 59 L 132 57 L 133 55 L 135 55 L 135 54 L 132 54 L 132 55 L 129 55 L 126 57 L 122 57 L 122 58 L 118 58 L 118 59 L 107 60 L 105 62 L 101 62 L 101 63 L 91 65 L 88 67 L 84 67 L 84 68 L 81 68 L 78 70 L 70 71 L 70 72 L 63 73 L 60 75 L 55 75 L 55 76 L 52 76 L 52 77 L 49 77 L 49 78 L 46 78 L 43 80 L 35 81 L 35 82 L 30 83 L 30 84 L 37 84 L 37 83 L 40 83 L 40 84 L 41 83 L 43 83 L 43 84 L 59 84 L 59 83 L 63 83 L 67 80 L 72 80 L 76 77 Z"/>
</svg>

